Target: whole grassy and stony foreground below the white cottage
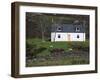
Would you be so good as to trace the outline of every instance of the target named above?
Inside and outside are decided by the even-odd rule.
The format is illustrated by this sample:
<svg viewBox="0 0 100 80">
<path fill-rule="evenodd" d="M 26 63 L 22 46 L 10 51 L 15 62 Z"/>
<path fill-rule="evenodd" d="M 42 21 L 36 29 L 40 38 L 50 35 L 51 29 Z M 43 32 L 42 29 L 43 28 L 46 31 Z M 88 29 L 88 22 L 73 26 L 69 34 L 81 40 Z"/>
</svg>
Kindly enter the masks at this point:
<svg viewBox="0 0 100 80">
<path fill-rule="evenodd" d="M 89 41 L 51 42 L 26 40 L 26 67 L 89 64 Z"/>
</svg>

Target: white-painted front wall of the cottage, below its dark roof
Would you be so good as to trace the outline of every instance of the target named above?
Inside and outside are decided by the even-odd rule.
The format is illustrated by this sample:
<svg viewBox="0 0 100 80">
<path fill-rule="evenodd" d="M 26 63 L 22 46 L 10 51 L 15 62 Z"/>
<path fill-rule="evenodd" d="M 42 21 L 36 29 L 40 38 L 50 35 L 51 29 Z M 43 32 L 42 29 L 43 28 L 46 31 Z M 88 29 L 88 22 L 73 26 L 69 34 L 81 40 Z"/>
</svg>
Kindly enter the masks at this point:
<svg viewBox="0 0 100 80">
<path fill-rule="evenodd" d="M 60 38 L 58 38 L 60 35 Z M 68 35 L 70 35 L 70 41 L 85 41 L 85 33 L 60 33 L 60 32 L 52 32 L 51 33 L 51 41 L 69 41 Z M 77 38 L 79 35 L 79 38 Z"/>
</svg>

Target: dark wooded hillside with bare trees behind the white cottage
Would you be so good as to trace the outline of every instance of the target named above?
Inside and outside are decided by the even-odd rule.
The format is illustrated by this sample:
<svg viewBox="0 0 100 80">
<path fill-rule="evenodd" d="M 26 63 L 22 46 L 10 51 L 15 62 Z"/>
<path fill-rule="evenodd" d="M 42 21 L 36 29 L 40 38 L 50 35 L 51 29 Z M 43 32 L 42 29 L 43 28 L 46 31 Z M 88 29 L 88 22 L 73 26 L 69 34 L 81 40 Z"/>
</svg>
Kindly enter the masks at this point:
<svg viewBox="0 0 100 80">
<path fill-rule="evenodd" d="M 73 24 L 73 21 L 79 20 L 83 23 L 86 30 L 86 38 L 89 39 L 89 16 L 79 15 L 57 15 L 43 13 L 26 13 L 26 37 L 41 38 L 45 40 L 50 38 L 51 27 L 54 24 Z M 35 35 L 34 35 L 35 34 Z"/>
</svg>

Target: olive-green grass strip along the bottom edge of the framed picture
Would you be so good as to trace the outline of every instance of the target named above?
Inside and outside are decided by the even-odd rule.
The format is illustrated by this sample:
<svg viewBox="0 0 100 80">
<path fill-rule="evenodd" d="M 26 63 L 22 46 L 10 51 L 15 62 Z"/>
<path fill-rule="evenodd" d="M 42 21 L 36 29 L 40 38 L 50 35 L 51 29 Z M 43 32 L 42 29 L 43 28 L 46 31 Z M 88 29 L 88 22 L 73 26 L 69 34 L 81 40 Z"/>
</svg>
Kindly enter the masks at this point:
<svg viewBox="0 0 100 80">
<path fill-rule="evenodd" d="M 31 63 L 27 63 L 28 67 L 33 66 L 57 66 L 57 65 L 79 65 L 79 64 L 89 64 L 88 60 L 81 58 L 62 58 L 57 60 L 45 60 L 45 61 L 33 61 Z"/>
</svg>

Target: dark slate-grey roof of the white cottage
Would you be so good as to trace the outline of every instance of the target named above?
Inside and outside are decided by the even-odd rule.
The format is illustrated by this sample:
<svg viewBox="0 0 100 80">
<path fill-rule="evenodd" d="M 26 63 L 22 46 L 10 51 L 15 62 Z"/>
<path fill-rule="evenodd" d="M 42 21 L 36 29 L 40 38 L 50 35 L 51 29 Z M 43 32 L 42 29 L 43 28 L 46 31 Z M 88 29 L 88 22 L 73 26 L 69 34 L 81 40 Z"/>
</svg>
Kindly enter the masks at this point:
<svg viewBox="0 0 100 80">
<path fill-rule="evenodd" d="M 79 28 L 79 31 L 76 31 L 76 27 Z M 61 30 L 58 30 L 61 28 Z M 55 24 L 52 25 L 51 32 L 71 32 L 71 33 L 81 33 L 85 32 L 85 28 L 82 24 Z"/>
</svg>

